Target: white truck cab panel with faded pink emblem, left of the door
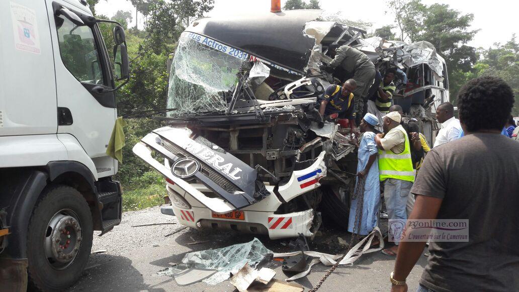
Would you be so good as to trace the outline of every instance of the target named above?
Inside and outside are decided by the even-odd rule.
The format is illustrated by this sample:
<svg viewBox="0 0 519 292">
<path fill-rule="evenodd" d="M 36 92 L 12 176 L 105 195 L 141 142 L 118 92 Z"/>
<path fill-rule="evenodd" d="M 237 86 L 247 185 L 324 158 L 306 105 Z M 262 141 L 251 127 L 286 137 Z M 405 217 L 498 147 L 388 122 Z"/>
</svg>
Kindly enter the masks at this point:
<svg viewBox="0 0 519 292">
<path fill-rule="evenodd" d="M 52 44 L 42 10 L 42 1 L 0 1 L 0 136 L 56 133 Z"/>
</svg>

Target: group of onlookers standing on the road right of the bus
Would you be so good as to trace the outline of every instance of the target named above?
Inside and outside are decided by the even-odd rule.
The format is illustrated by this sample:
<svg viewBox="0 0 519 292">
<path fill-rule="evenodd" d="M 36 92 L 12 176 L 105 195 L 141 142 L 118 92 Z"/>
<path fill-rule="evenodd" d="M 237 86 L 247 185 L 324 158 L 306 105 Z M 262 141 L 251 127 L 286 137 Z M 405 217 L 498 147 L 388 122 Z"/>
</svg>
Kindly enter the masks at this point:
<svg viewBox="0 0 519 292">
<path fill-rule="evenodd" d="M 436 108 L 441 128 L 432 148 L 417 120 L 405 117 L 399 106 L 381 119 L 371 113 L 362 118 L 356 188 L 362 183 L 364 194 L 362 204 L 359 198 L 351 202 L 350 232 L 365 235 L 378 225 L 380 183 L 389 219 L 469 220 L 467 242 L 429 243 L 417 291 L 519 290 L 519 252 L 512 248 L 519 240 L 519 143 L 513 141 L 519 127 L 510 116 L 513 102 L 512 90 L 499 78 L 468 82 L 458 96 L 460 119 L 448 102 Z M 377 134 L 379 126 L 383 133 Z M 413 231 L 407 226 L 405 232 Z M 390 225 L 394 245 L 382 253 L 397 256 L 392 291 L 406 291 L 405 279 L 426 242 L 399 242 L 395 233 Z"/>
</svg>

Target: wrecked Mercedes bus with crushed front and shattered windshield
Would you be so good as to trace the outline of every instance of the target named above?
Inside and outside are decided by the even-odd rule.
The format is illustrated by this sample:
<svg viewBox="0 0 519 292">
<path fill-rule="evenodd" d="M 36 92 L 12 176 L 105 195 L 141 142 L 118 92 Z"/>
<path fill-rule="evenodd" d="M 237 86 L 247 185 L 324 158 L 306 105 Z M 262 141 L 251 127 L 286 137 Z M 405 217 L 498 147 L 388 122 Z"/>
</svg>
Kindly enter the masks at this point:
<svg viewBox="0 0 519 292">
<path fill-rule="evenodd" d="M 431 89 L 420 79 L 436 55 L 430 44 L 409 50 L 404 43 L 365 39 L 365 31 L 321 15 L 290 10 L 207 17 L 181 34 L 169 69 L 168 107 L 175 110 L 164 118 L 166 127 L 133 148 L 166 177 L 171 205 L 162 213 L 195 229 L 271 239 L 312 237 L 321 212 L 346 228 L 356 146 L 349 129 L 323 120 L 316 107 L 325 88 L 344 77 L 319 69 L 332 60 L 332 45 L 360 48 L 381 70 L 422 66 L 422 75 L 409 79 L 416 86 L 401 87 L 399 102 L 411 101 L 409 113 L 421 106 L 418 112 L 429 113 L 424 119 L 432 123 L 434 109 L 423 107 L 432 94 L 415 101 Z M 413 53 L 422 49 L 430 50 L 427 57 Z M 431 134 L 438 129 L 430 128 Z"/>
</svg>

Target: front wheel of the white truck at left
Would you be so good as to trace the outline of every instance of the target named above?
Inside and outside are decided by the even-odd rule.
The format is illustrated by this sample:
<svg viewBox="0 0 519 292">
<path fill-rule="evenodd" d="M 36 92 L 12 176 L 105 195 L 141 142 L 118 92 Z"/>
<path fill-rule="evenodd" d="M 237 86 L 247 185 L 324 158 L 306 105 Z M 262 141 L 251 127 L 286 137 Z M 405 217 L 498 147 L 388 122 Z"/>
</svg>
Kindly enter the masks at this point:
<svg viewBox="0 0 519 292">
<path fill-rule="evenodd" d="M 43 291 L 72 285 L 92 249 L 92 215 L 76 189 L 47 189 L 34 207 L 27 233 L 29 283 Z"/>
</svg>

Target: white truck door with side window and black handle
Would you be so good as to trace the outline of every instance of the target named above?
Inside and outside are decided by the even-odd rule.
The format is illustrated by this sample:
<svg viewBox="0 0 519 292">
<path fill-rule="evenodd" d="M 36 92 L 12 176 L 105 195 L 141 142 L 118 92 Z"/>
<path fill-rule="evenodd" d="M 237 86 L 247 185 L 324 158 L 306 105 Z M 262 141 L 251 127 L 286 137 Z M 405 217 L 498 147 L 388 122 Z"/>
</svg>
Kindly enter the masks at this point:
<svg viewBox="0 0 519 292">
<path fill-rule="evenodd" d="M 69 9 L 85 24 L 75 24 L 57 12 Z M 56 67 L 58 133 L 76 137 L 91 158 L 106 156 L 117 117 L 110 62 L 96 23 L 90 14 L 68 2 L 47 0 Z M 58 16 L 57 16 L 58 14 Z"/>
</svg>

